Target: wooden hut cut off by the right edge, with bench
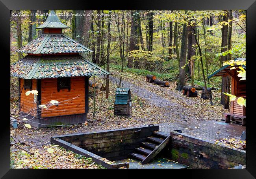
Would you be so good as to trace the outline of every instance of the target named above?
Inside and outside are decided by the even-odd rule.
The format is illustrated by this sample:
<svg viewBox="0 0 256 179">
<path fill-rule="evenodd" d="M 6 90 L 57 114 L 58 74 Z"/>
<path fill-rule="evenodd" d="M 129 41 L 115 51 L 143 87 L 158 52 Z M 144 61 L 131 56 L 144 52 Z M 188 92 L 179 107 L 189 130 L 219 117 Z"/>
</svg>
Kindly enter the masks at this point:
<svg viewBox="0 0 256 179">
<path fill-rule="evenodd" d="M 235 60 L 246 60 L 246 58 L 236 58 Z M 231 94 L 235 95 L 237 98 L 246 98 L 246 80 L 240 80 L 241 77 L 237 76 L 237 70 L 239 65 L 235 65 L 234 69 L 230 65 L 225 65 L 221 69 L 215 71 L 213 74 L 208 76 L 208 79 L 213 76 L 227 76 L 231 77 Z M 231 101 L 230 113 L 224 113 L 226 118 L 226 123 L 232 121 L 241 122 L 245 125 L 246 119 L 246 108 L 245 106 L 240 106 L 237 103 L 237 98 Z"/>
</svg>

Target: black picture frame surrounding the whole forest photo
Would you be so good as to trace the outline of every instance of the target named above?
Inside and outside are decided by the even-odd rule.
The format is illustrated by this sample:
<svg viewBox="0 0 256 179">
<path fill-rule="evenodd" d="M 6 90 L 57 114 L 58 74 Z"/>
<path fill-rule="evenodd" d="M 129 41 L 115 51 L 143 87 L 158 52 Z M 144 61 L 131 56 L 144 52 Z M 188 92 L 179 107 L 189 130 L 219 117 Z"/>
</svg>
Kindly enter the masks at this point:
<svg viewBox="0 0 256 179">
<path fill-rule="evenodd" d="M 246 170 L 172 170 L 160 172 L 150 172 L 150 178 L 154 177 L 184 177 L 185 174 L 189 178 L 204 179 L 253 179 L 256 177 L 256 139 L 254 119 L 254 104 L 256 101 L 256 85 L 255 77 L 252 74 L 255 70 L 254 62 L 254 46 L 256 39 L 256 2 L 254 0 L 129 0 L 127 2 L 112 1 L 89 1 L 89 0 L 55 0 L 55 1 L 35 1 L 35 0 L 1 0 L 0 2 L 0 24 L 1 24 L 1 74 L 5 83 L 0 89 L 3 106 L 1 108 L 2 126 L 1 126 L 1 161 L 0 161 L 0 177 L 2 178 L 52 178 L 58 176 L 67 177 L 68 174 L 77 178 L 79 175 L 83 177 L 99 177 L 99 173 L 106 175 L 105 171 L 83 171 L 83 170 L 10 170 L 9 158 L 9 13 L 10 9 L 246 9 L 247 10 L 247 169 Z M 131 172 L 131 170 L 122 170 L 123 172 Z M 89 173 L 90 174 L 89 174 Z M 106 172 L 110 172 L 109 170 Z M 111 171 L 113 172 L 113 171 Z M 114 171 L 116 172 L 116 171 Z M 119 171 L 120 172 L 120 171 Z M 164 171 L 161 171 L 161 173 Z M 148 173 L 147 171 L 143 172 Z M 111 177 L 113 174 L 111 174 Z M 124 175 L 116 175 L 123 177 Z M 137 175 L 130 175 L 130 177 Z"/>
</svg>

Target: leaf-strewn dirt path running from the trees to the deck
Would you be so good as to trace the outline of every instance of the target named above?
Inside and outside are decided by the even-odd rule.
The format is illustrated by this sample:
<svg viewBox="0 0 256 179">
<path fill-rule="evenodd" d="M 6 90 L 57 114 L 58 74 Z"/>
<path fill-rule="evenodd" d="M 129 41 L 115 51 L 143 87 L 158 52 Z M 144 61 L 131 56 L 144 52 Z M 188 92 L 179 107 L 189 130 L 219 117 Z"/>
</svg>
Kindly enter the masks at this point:
<svg viewBox="0 0 256 179">
<path fill-rule="evenodd" d="M 128 79 L 130 80 L 130 79 Z M 186 122 L 201 120 L 218 120 L 223 118 L 219 106 L 208 107 L 208 100 L 188 98 L 173 87 L 161 88 L 159 85 L 147 83 L 143 78 L 136 81 L 136 84 L 122 80 L 124 87 L 131 89 L 132 94 L 145 99 L 148 103 L 162 108 L 162 115 L 168 116 L 170 121 Z M 113 83 L 114 78 L 111 78 Z M 117 82 L 119 82 L 117 80 Z M 198 95 L 200 96 L 200 94 Z M 198 105 L 199 104 L 199 105 Z"/>
</svg>

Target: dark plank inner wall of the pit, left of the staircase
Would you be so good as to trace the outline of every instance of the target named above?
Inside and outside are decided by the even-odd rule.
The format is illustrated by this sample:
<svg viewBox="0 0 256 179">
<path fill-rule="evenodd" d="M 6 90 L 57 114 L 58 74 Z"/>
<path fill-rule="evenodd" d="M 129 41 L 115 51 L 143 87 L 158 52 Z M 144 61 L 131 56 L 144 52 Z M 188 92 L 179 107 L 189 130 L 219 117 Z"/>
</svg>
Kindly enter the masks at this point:
<svg viewBox="0 0 256 179">
<path fill-rule="evenodd" d="M 57 137 L 108 160 L 119 160 L 126 159 L 156 130 L 158 126 L 134 127 Z"/>
</svg>

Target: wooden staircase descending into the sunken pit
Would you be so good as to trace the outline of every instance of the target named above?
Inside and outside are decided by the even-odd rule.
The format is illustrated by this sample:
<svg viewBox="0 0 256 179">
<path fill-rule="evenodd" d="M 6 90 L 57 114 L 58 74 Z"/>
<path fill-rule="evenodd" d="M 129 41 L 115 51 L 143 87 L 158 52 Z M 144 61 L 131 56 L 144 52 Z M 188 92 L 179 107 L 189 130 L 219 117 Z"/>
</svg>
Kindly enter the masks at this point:
<svg viewBox="0 0 256 179">
<path fill-rule="evenodd" d="M 147 137 L 146 142 L 141 143 L 141 147 L 135 149 L 130 156 L 139 159 L 141 164 L 150 162 L 165 146 L 169 143 L 171 136 L 166 136 L 165 133 L 157 131 L 153 135 Z"/>
</svg>

